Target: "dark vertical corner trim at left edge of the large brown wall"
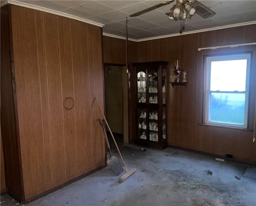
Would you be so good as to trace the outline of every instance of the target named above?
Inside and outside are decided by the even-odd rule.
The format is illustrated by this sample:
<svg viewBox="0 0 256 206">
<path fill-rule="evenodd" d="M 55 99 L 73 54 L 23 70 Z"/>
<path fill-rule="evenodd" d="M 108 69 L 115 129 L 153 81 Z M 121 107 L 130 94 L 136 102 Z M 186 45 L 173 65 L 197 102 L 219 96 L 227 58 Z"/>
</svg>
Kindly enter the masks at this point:
<svg viewBox="0 0 256 206">
<path fill-rule="evenodd" d="M 19 121 L 18 121 L 18 105 L 17 105 L 17 96 L 16 96 L 16 81 L 15 81 L 15 71 L 14 71 L 14 56 L 13 56 L 13 45 L 12 45 L 12 7 L 8 4 L 8 15 L 9 15 L 9 38 L 10 38 L 10 60 L 11 60 L 11 69 L 12 69 L 12 88 L 13 88 L 13 99 L 14 99 L 14 115 L 15 115 L 15 126 L 16 126 L 16 141 L 18 149 L 18 161 L 19 161 L 19 172 L 20 172 L 20 190 L 21 190 L 21 199 L 22 202 L 25 201 L 25 192 L 24 192 L 24 182 L 22 174 L 22 160 L 21 160 L 21 151 L 20 151 L 20 131 L 19 131 Z"/>
</svg>

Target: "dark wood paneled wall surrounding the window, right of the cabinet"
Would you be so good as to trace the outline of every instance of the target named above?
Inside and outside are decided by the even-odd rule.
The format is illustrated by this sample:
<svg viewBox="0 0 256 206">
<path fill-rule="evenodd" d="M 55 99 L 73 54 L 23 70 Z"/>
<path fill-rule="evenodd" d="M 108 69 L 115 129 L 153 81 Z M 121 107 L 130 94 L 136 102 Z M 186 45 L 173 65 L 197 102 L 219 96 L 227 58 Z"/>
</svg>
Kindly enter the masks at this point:
<svg viewBox="0 0 256 206">
<path fill-rule="evenodd" d="M 256 42 L 255 33 L 254 24 L 138 42 L 138 62 L 169 61 L 169 77 L 178 59 L 181 68 L 187 73 L 188 88 L 172 88 L 171 85 L 168 88 L 169 145 L 220 156 L 232 154 L 234 159 L 256 162 L 256 143 L 252 143 L 252 131 L 198 125 L 202 123 L 203 55 L 253 51 L 249 129 L 254 129 L 256 46 L 202 51 L 198 51 L 198 48 Z"/>
</svg>

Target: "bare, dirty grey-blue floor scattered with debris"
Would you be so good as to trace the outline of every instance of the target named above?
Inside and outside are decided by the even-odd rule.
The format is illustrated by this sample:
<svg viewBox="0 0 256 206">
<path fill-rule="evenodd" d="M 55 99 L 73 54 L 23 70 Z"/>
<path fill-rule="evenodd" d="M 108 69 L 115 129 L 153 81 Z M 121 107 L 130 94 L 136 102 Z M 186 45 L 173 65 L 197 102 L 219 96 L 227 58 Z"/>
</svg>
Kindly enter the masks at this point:
<svg viewBox="0 0 256 206">
<path fill-rule="evenodd" d="M 173 148 L 121 145 L 128 169 L 123 183 L 109 167 L 52 192 L 28 206 L 255 206 L 256 166 Z M 118 156 L 117 153 L 115 153 Z M 212 171 L 212 175 L 205 170 Z M 237 178 L 240 179 L 237 179 Z M 9 198 L 9 200 L 8 200 Z M 5 202 L 3 202 L 5 201 Z M 1 196 L 1 206 L 16 205 Z"/>
</svg>

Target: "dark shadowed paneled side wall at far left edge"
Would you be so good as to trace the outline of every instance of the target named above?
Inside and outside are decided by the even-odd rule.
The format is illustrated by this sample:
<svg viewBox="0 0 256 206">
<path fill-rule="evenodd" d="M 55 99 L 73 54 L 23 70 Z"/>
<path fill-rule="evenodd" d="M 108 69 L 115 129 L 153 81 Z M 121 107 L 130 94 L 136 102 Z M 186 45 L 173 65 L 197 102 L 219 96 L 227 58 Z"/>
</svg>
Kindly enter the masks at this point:
<svg viewBox="0 0 256 206">
<path fill-rule="evenodd" d="M 11 39 L 9 36 L 9 7 L 1 7 L 1 132 L 4 170 L 8 193 L 22 200 L 19 141 L 16 129 L 13 71 L 11 66 Z M 18 85 L 17 85 L 18 87 Z M 7 161 L 8 160 L 8 161 Z M 2 165 L 2 162 L 1 162 Z M 1 167 L 2 169 L 2 167 Z M 2 175 L 2 171 L 1 171 Z M 2 179 L 1 179 L 2 182 Z"/>
</svg>

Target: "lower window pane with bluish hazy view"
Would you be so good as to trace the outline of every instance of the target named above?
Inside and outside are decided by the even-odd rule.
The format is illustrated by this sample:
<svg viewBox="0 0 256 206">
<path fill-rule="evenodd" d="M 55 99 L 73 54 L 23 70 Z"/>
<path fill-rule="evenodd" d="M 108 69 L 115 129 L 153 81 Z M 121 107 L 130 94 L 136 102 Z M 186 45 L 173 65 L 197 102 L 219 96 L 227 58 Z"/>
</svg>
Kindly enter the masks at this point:
<svg viewBox="0 0 256 206">
<path fill-rule="evenodd" d="M 210 95 L 210 122 L 244 125 L 245 94 L 212 92 Z"/>
</svg>

